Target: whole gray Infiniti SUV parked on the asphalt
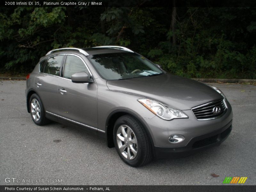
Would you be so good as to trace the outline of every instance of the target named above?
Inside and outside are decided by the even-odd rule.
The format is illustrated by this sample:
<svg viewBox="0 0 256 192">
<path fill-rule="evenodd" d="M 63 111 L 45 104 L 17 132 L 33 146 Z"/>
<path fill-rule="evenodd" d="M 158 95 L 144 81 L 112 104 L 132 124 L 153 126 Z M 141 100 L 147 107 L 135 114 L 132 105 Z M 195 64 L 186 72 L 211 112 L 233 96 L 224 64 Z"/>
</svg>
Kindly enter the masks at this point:
<svg viewBox="0 0 256 192">
<path fill-rule="evenodd" d="M 35 124 L 82 127 L 134 167 L 220 145 L 232 129 L 232 108 L 218 88 L 120 46 L 48 52 L 27 76 L 26 98 Z"/>
</svg>

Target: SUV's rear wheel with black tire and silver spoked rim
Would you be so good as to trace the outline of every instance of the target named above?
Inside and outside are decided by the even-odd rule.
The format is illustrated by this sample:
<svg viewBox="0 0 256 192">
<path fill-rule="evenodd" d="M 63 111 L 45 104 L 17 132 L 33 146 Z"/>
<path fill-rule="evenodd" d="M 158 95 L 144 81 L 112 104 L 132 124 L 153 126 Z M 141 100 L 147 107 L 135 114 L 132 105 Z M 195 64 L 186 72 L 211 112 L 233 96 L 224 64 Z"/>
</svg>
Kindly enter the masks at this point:
<svg viewBox="0 0 256 192">
<path fill-rule="evenodd" d="M 50 120 L 45 117 L 43 103 L 36 93 L 32 94 L 29 99 L 29 110 L 35 124 L 45 125 L 50 122 Z"/>
</svg>

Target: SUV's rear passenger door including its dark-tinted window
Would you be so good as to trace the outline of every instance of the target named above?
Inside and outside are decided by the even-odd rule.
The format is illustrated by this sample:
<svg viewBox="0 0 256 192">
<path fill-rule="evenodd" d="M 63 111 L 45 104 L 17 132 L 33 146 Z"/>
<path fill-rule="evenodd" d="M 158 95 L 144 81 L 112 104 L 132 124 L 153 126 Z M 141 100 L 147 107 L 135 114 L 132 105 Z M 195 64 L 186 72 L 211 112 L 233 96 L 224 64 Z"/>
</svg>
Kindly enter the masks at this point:
<svg viewBox="0 0 256 192">
<path fill-rule="evenodd" d="M 54 114 L 59 114 L 57 93 L 63 59 L 64 55 L 56 55 L 42 61 L 35 77 L 34 87 L 43 102 L 44 110 Z"/>
</svg>

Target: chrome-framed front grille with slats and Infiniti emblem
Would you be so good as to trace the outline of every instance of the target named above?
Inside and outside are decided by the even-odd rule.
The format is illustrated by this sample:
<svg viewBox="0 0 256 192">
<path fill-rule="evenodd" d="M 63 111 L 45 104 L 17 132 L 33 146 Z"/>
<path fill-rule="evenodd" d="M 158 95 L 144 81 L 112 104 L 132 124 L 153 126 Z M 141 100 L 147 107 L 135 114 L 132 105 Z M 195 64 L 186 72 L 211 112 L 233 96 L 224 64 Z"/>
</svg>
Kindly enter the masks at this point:
<svg viewBox="0 0 256 192">
<path fill-rule="evenodd" d="M 226 112 L 227 105 L 225 100 L 212 101 L 192 108 L 198 120 L 216 119 Z M 215 111 L 214 111 L 215 110 Z"/>
</svg>

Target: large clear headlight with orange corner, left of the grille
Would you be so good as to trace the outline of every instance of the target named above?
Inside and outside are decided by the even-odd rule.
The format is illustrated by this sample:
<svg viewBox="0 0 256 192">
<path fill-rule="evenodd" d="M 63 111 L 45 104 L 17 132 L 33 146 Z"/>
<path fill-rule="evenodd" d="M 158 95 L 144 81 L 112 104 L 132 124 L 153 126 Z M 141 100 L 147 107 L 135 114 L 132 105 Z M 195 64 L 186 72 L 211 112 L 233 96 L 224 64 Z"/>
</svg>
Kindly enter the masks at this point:
<svg viewBox="0 0 256 192">
<path fill-rule="evenodd" d="M 188 116 L 181 110 L 165 106 L 157 101 L 151 99 L 138 99 L 138 101 L 156 116 L 159 116 L 164 120 L 188 118 Z"/>
</svg>

